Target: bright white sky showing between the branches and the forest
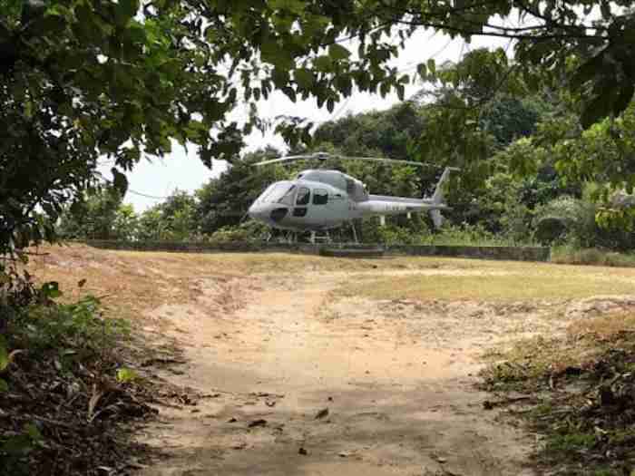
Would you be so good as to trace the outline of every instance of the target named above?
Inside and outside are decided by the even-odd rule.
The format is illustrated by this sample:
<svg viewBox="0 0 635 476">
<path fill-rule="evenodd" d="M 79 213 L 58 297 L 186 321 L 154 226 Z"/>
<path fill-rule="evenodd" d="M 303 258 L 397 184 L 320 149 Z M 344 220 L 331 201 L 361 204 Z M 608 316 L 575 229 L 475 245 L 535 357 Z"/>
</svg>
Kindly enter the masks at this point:
<svg viewBox="0 0 635 476">
<path fill-rule="evenodd" d="M 401 51 L 398 59 L 392 66 L 396 66 L 401 73 L 416 72 L 418 63 L 425 63 L 429 58 L 434 58 L 437 64 L 446 61 L 457 62 L 464 53 L 480 47 L 495 48 L 501 46 L 507 48 L 508 40 L 496 39 L 492 37 L 474 38 L 471 44 L 465 44 L 462 39 L 451 40 L 449 36 L 434 34 L 431 31 L 422 30 L 413 35 L 406 43 L 405 49 Z M 356 51 L 350 44 L 351 51 Z M 511 50 L 510 50 L 511 54 Z M 412 96 L 422 88 L 421 83 L 411 83 L 405 88 L 405 98 Z M 278 115 L 295 115 L 306 117 L 316 125 L 359 112 L 381 111 L 390 108 L 398 103 L 396 93 L 382 98 L 379 94 L 366 92 L 354 92 L 350 97 L 337 103 L 332 113 L 326 107 L 318 108 L 315 100 L 291 102 L 284 94 L 274 92 L 269 96 L 269 100 L 259 102 L 259 115 L 263 119 L 273 119 Z M 235 119 L 245 117 L 245 110 L 238 108 L 234 114 Z M 278 149 L 285 150 L 285 144 L 281 137 L 268 132 L 263 135 L 256 131 L 246 138 L 247 148 L 245 151 L 254 151 L 270 144 Z M 152 161 L 142 160 L 132 170 L 127 173 L 129 191 L 124 201 L 133 205 L 134 209 L 141 212 L 151 206 L 160 203 L 162 199 L 170 195 L 175 189 L 193 191 L 199 189 L 210 179 L 217 177 L 227 164 L 223 161 L 214 160 L 211 170 L 205 167 L 197 157 L 196 147 L 192 146 L 186 151 L 180 145 L 174 143 L 171 154 L 163 159 L 153 159 Z M 103 176 L 111 179 L 110 166 L 103 166 Z"/>
</svg>

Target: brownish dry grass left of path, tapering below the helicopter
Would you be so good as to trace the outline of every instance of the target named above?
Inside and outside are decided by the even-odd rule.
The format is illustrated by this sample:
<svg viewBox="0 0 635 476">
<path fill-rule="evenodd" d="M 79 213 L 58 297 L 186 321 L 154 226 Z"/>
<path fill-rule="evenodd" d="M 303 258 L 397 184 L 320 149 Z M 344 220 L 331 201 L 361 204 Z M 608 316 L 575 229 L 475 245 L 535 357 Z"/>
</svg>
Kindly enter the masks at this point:
<svg viewBox="0 0 635 476">
<path fill-rule="evenodd" d="M 369 270 L 392 260 L 344 260 L 271 254 L 196 254 L 110 251 L 83 245 L 43 247 L 29 271 L 39 282 L 57 281 L 63 300 L 91 294 L 103 297 L 107 314 L 135 320 L 163 304 L 190 302 L 200 296 L 200 280 L 226 282 L 256 274 L 303 276 L 316 271 Z M 78 282 L 85 279 L 85 285 Z"/>
</svg>

